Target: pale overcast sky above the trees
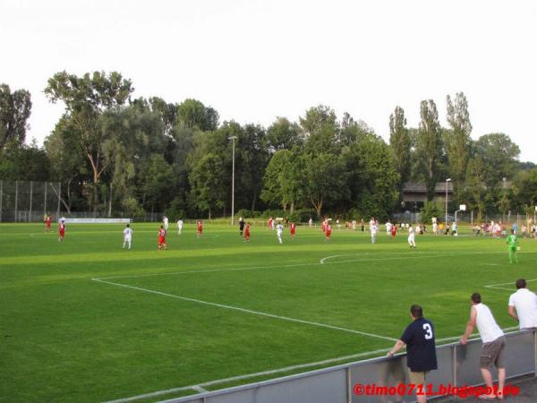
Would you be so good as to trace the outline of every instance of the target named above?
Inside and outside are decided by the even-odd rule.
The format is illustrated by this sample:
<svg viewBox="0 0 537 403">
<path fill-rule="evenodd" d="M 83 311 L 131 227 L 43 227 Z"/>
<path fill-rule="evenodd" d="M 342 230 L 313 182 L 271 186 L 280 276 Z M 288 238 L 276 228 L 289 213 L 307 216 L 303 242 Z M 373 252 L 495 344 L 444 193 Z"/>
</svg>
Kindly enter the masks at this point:
<svg viewBox="0 0 537 403">
<path fill-rule="evenodd" d="M 49 77 L 115 70 L 134 97 L 200 99 L 221 122 L 323 104 L 387 141 L 397 105 L 417 127 L 434 99 L 446 124 L 446 95 L 463 91 L 473 139 L 507 133 L 537 162 L 533 0 L 0 0 L 0 21 L 0 82 L 32 96 L 28 141 L 64 110 Z"/>
</svg>

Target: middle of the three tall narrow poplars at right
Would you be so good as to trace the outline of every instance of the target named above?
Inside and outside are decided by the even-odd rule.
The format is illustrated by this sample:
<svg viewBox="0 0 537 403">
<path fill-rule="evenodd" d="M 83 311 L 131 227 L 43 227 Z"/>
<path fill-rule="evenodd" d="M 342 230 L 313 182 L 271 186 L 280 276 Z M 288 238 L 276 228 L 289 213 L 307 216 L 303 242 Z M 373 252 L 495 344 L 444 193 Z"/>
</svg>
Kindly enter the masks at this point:
<svg viewBox="0 0 537 403">
<path fill-rule="evenodd" d="M 416 149 L 418 158 L 424 164 L 427 200 L 434 198 L 434 189 L 439 180 L 439 161 L 442 158 L 442 131 L 439 112 L 432 99 L 422 100 L 420 108 L 420 128 Z"/>
</svg>

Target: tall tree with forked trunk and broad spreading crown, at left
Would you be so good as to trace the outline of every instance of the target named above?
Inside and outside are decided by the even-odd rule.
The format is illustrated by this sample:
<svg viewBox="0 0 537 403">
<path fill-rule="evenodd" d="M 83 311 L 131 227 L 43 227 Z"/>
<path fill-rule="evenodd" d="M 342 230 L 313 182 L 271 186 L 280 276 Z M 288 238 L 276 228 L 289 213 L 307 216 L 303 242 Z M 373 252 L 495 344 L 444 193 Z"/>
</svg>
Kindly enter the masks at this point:
<svg viewBox="0 0 537 403">
<path fill-rule="evenodd" d="M 103 144 L 109 133 L 101 130 L 98 118 L 105 110 L 123 105 L 132 90 L 132 82 L 116 72 L 85 73 L 78 77 L 64 71 L 48 79 L 45 89 L 48 99 L 53 103 L 64 102 L 77 143 L 90 161 L 93 173 L 91 207 L 94 211 L 98 207 L 99 179 L 108 164 L 104 159 Z"/>
</svg>

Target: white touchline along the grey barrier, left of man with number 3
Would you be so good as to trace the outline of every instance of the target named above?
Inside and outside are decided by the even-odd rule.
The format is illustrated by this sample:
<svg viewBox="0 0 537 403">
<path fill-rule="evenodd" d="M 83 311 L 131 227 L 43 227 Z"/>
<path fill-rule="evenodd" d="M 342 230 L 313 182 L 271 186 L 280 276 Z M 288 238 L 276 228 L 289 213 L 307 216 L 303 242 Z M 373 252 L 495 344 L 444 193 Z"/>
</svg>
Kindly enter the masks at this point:
<svg viewBox="0 0 537 403">
<path fill-rule="evenodd" d="M 260 373 L 247 373 L 245 375 L 238 375 L 238 376 L 232 376 L 230 378 L 218 379 L 218 380 L 209 381 L 209 382 L 203 382 L 203 383 L 200 383 L 200 384 L 197 384 L 197 385 L 183 386 L 183 387 L 180 387 L 180 388 L 173 388 L 173 389 L 167 389 L 167 390 L 158 390 L 158 391 L 155 391 L 155 392 L 152 392 L 152 393 L 146 393 L 146 394 L 143 394 L 143 395 L 132 396 L 131 398 L 109 400 L 109 401 L 107 401 L 105 403 L 126 403 L 128 401 L 135 401 L 135 400 L 141 400 L 141 399 L 150 399 L 150 398 L 155 398 L 157 396 L 169 395 L 171 393 L 175 393 L 175 392 L 182 391 L 182 390 L 195 390 L 195 388 L 200 388 L 200 387 L 206 387 L 207 388 L 209 386 L 214 386 L 214 385 L 217 385 L 217 384 L 220 384 L 220 383 L 242 381 L 244 379 L 257 378 L 257 377 L 260 377 L 260 376 L 272 375 L 274 373 L 288 373 L 288 372 L 295 371 L 297 369 L 308 368 L 308 367 L 311 367 L 311 366 L 322 366 L 322 365 L 326 365 L 326 364 L 337 363 L 338 361 L 346 361 L 346 360 L 351 360 L 351 359 L 354 359 L 354 358 L 360 358 L 362 356 L 371 356 L 371 355 L 375 355 L 375 354 L 379 354 L 379 353 L 385 353 L 386 351 L 388 351 L 388 349 L 389 349 L 389 347 L 382 348 L 382 349 L 379 349 L 379 350 L 366 351 L 364 353 L 354 354 L 352 356 L 340 356 L 340 357 L 337 357 L 337 358 L 330 358 L 328 360 L 318 361 L 316 363 L 291 365 L 291 366 L 286 366 L 285 368 L 277 368 L 277 369 L 274 369 L 274 370 L 263 371 L 263 372 L 260 372 Z"/>
</svg>

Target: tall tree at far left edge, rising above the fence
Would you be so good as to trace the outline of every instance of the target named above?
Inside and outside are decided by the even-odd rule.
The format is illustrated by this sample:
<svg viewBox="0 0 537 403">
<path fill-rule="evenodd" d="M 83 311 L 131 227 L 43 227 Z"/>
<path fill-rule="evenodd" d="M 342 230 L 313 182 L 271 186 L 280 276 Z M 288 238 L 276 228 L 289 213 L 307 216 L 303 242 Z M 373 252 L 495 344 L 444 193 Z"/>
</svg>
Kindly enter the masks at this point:
<svg viewBox="0 0 537 403">
<path fill-rule="evenodd" d="M 0 85 L 0 151 L 9 141 L 22 145 L 26 138 L 27 120 L 31 112 L 28 90 L 12 91 L 7 84 Z"/>
</svg>

